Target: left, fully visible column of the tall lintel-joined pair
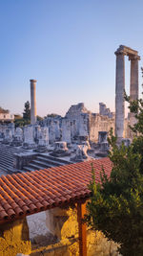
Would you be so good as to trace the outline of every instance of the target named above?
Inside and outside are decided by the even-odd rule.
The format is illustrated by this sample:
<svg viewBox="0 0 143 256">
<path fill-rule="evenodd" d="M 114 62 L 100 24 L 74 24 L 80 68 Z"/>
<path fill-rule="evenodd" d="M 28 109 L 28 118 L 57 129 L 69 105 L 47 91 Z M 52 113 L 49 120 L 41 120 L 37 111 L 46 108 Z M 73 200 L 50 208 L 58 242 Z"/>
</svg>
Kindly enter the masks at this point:
<svg viewBox="0 0 143 256">
<path fill-rule="evenodd" d="M 120 143 L 124 131 L 124 90 L 125 90 L 125 63 L 124 53 L 115 52 L 116 55 L 116 80 L 115 80 L 115 135 Z"/>
</svg>

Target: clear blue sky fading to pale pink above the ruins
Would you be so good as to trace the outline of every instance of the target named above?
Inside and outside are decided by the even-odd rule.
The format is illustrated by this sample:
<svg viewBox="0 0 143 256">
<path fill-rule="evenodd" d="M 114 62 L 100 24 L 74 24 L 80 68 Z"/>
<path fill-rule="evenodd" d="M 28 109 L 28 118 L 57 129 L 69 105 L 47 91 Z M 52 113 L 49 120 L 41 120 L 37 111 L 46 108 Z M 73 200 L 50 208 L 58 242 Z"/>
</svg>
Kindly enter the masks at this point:
<svg viewBox="0 0 143 256">
<path fill-rule="evenodd" d="M 0 35 L 2 107 L 22 113 L 36 79 L 38 115 L 79 102 L 113 110 L 114 51 L 125 44 L 143 57 L 143 1 L 0 0 Z M 127 90 L 129 72 L 126 59 Z"/>
</svg>

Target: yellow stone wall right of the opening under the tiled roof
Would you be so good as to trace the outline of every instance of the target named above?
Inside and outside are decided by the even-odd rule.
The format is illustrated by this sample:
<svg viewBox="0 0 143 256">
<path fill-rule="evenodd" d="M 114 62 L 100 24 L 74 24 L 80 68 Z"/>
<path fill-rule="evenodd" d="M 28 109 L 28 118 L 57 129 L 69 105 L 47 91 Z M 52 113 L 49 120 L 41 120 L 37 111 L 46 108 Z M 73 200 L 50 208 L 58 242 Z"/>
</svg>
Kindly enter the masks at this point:
<svg viewBox="0 0 143 256">
<path fill-rule="evenodd" d="M 78 222 L 75 208 L 54 208 L 46 211 L 46 225 L 59 243 L 33 249 L 31 256 L 79 256 Z M 101 232 L 87 230 L 88 256 L 119 256 L 117 245 Z"/>
</svg>

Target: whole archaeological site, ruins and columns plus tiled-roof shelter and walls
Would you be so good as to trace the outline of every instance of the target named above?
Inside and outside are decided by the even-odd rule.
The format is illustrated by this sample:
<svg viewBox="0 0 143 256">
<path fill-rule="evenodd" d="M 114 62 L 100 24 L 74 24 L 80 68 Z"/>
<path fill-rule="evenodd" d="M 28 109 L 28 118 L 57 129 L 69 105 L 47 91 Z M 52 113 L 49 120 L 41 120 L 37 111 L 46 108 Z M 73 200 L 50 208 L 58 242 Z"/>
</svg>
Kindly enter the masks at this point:
<svg viewBox="0 0 143 256">
<path fill-rule="evenodd" d="M 115 51 L 115 112 L 99 103 L 92 113 L 83 103 L 64 117 L 36 118 L 36 80 L 30 81 L 31 125 L 15 128 L 14 116 L 0 109 L 0 256 L 119 255 L 117 244 L 82 221 L 91 191 L 92 166 L 110 176 L 108 134 L 117 143 L 133 140 L 125 118 L 125 57 L 131 61 L 131 100 L 138 99 L 138 52 Z M 101 99 L 102 101 L 102 99 Z"/>
</svg>

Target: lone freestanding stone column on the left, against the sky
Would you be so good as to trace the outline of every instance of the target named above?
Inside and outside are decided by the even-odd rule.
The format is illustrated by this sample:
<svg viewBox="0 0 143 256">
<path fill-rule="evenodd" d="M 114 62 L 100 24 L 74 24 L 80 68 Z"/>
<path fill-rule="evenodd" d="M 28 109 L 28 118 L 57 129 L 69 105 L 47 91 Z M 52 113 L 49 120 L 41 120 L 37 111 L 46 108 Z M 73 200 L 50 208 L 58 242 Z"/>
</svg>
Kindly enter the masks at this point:
<svg viewBox="0 0 143 256">
<path fill-rule="evenodd" d="M 36 123 L 36 97 L 35 97 L 35 87 L 36 80 L 31 81 L 31 125 Z"/>
</svg>

